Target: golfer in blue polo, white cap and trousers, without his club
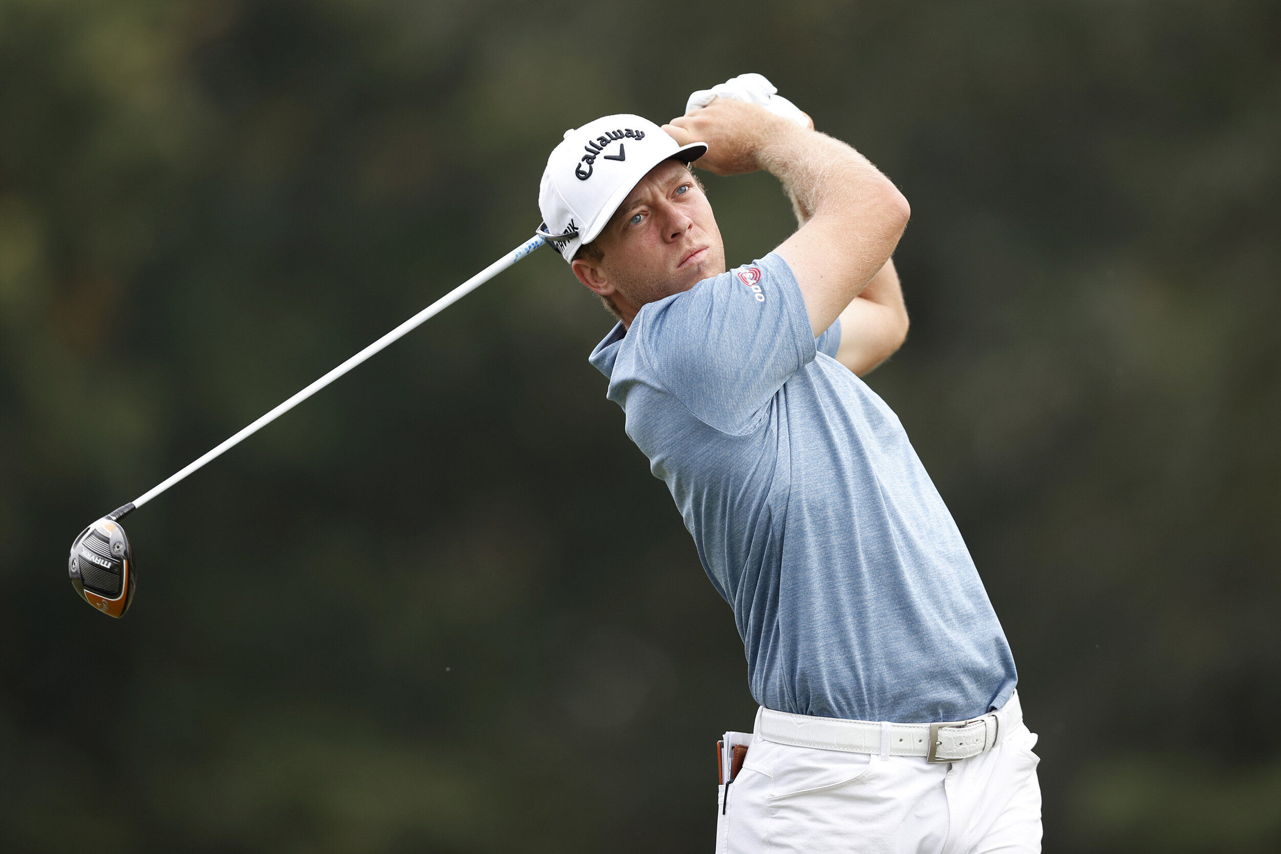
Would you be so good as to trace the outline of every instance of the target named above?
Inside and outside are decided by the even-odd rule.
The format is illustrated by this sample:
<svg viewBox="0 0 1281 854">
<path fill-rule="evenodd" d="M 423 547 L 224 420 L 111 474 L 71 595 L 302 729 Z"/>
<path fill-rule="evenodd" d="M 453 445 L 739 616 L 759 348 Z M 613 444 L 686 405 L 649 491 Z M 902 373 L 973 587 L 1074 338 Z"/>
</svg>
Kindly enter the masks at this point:
<svg viewBox="0 0 1281 854">
<path fill-rule="evenodd" d="M 717 851 L 1039 851 L 1004 632 L 858 379 L 907 333 L 890 261 L 907 201 L 769 106 L 729 92 L 661 128 L 597 119 L 565 133 L 539 191 L 541 232 L 619 320 L 591 362 L 747 650 L 761 708 L 726 734 Z M 726 271 L 694 160 L 772 173 L 797 232 Z"/>
</svg>

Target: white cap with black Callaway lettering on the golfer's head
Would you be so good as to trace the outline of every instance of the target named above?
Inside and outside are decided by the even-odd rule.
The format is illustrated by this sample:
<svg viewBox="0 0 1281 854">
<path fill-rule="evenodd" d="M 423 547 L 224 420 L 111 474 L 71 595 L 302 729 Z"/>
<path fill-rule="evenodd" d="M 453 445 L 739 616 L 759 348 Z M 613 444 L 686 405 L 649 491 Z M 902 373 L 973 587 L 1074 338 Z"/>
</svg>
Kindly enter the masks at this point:
<svg viewBox="0 0 1281 854">
<path fill-rule="evenodd" d="M 690 163 L 707 143 L 678 145 L 649 119 L 620 113 L 565 132 L 547 157 L 538 187 L 543 224 L 538 233 L 566 261 L 597 238 L 628 193 L 656 165 L 676 157 Z"/>
</svg>

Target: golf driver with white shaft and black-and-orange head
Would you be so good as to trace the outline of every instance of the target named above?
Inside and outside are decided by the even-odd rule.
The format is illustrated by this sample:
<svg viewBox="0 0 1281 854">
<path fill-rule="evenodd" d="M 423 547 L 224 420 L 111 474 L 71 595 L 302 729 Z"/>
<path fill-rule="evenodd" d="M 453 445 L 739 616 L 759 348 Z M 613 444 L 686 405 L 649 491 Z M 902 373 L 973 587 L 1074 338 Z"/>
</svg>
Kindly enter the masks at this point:
<svg viewBox="0 0 1281 854">
<path fill-rule="evenodd" d="M 129 548 L 129 538 L 126 536 L 124 528 L 120 525 L 122 519 L 163 493 L 169 487 L 184 479 L 191 472 L 201 469 L 205 463 L 215 460 L 232 447 L 254 435 L 264 426 L 350 371 L 356 365 L 360 365 L 392 342 L 398 341 L 411 330 L 416 329 L 427 319 L 453 305 L 468 293 L 471 293 L 482 284 L 498 275 L 548 241 L 566 241 L 575 236 L 575 233 L 553 236 L 548 234 L 544 230 L 544 227 L 539 227 L 534 237 L 507 252 L 484 270 L 453 288 L 443 297 L 423 309 L 416 315 L 396 326 L 347 361 L 342 362 L 328 374 L 242 429 L 240 433 L 236 433 L 200 458 L 169 475 L 167 479 L 161 480 L 159 484 L 142 493 L 128 504 L 115 508 L 102 519 L 86 528 L 81 531 L 79 536 L 72 542 L 72 553 L 67 567 L 68 574 L 72 577 L 72 586 L 76 588 L 76 592 L 82 599 L 102 613 L 109 617 L 123 617 L 124 612 L 128 611 L 129 606 L 133 603 L 133 590 L 137 586 L 137 566 L 133 560 L 133 551 Z"/>
</svg>

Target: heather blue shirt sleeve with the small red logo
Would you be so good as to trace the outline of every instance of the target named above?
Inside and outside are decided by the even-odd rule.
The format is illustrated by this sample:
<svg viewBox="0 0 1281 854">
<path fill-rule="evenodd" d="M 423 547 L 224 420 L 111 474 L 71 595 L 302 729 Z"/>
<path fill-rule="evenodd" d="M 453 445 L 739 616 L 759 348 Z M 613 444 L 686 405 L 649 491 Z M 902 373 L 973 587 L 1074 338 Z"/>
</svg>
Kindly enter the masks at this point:
<svg viewBox="0 0 1281 854">
<path fill-rule="evenodd" d="M 801 288 L 775 254 L 649 303 L 638 321 L 657 383 L 725 433 L 749 429 L 817 352 Z"/>
</svg>

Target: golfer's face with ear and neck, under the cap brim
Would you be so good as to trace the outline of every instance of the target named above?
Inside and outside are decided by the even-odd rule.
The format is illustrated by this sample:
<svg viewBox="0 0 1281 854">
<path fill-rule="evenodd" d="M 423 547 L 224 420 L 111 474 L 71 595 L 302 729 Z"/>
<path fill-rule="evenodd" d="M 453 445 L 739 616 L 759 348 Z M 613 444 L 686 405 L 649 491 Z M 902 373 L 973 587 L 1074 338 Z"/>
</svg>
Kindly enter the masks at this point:
<svg viewBox="0 0 1281 854">
<path fill-rule="evenodd" d="M 579 259 L 574 274 L 607 297 L 626 324 L 640 306 L 725 271 L 725 246 L 712 206 L 676 160 L 651 169 L 593 242 L 605 252 L 603 260 Z"/>
</svg>

